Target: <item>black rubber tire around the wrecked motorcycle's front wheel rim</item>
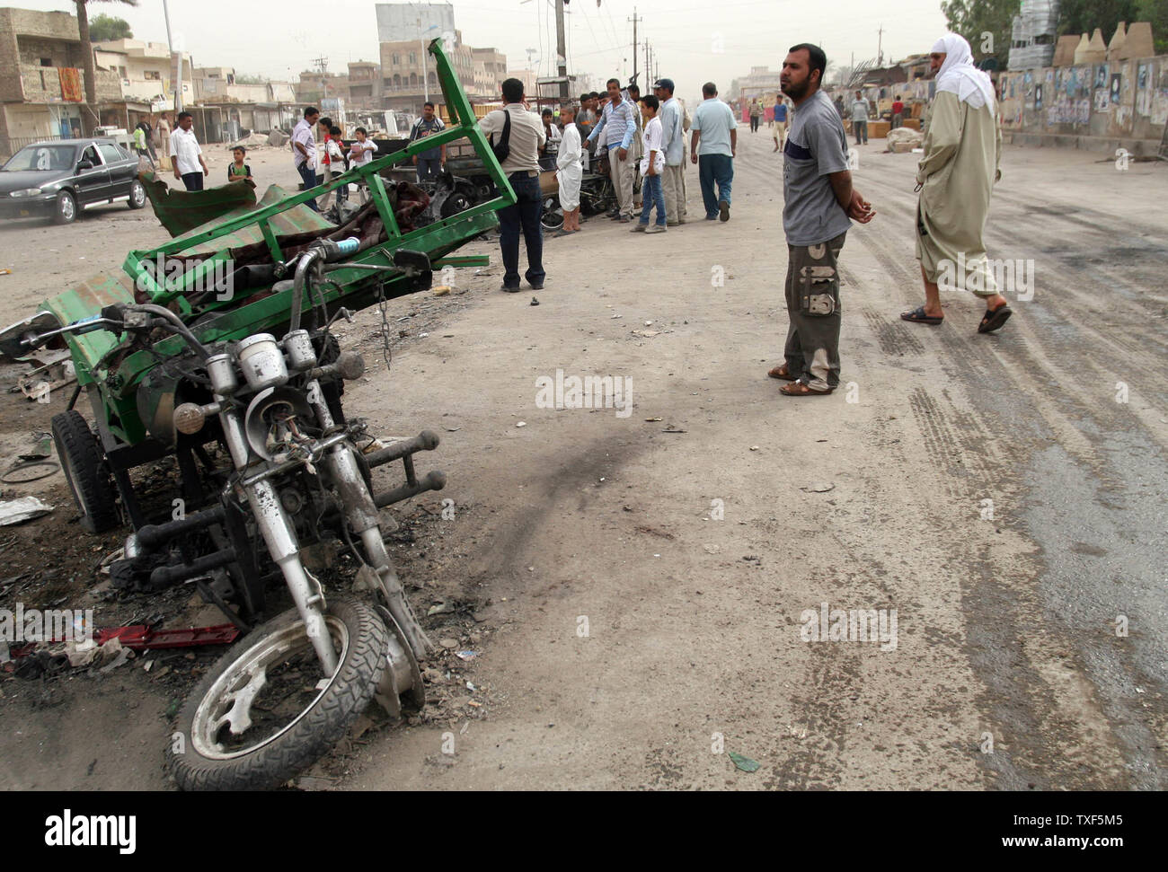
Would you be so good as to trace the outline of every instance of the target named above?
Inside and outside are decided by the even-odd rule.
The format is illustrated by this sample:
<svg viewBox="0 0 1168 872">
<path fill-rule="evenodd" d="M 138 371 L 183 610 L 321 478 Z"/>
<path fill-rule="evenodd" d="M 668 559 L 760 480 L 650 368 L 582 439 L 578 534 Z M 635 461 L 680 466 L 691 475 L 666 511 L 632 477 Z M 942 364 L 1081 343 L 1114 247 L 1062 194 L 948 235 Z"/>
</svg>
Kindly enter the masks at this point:
<svg viewBox="0 0 1168 872">
<path fill-rule="evenodd" d="M 329 598 L 326 620 L 343 625 L 346 637 L 339 651 L 340 667 L 327 688 L 281 732 L 236 756 L 207 754 L 197 740 L 196 723 L 204 698 L 221 677 L 273 637 L 304 625 L 294 609 L 257 627 L 231 646 L 192 691 L 179 714 L 176 733 L 167 751 L 171 772 L 183 790 L 267 790 L 283 784 L 324 756 L 369 705 L 387 669 L 389 629 L 377 613 L 355 599 Z M 334 640 L 336 634 L 329 627 Z M 176 744 L 181 733 L 181 749 Z"/>
</svg>

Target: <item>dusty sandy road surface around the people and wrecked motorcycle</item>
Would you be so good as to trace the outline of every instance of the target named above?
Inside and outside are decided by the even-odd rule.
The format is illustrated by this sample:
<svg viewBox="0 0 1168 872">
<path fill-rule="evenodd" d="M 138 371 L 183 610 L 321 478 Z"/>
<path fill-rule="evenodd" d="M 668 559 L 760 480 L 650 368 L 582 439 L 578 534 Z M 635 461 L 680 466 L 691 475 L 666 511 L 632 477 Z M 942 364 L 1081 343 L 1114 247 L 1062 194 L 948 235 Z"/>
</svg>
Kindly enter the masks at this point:
<svg viewBox="0 0 1168 872">
<path fill-rule="evenodd" d="M 390 307 L 388 377 L 376 313 L 348 328 L 370 362 L 350 413 L 443 437 L 419 468 L 450 483 L 418 502 L 454 517 L 398 550 L 423 608 L 470 604 L 446 632 L 479 654 L 430 674 L 440 713 L 366 733 L 319 786 L 1164 788 L 1166 169 L 1008 148 L 988 244 L 1035 288 L 979 336 L 967 295 L 943 327 L 897 319 L 923 299 L 916 158 L 861 148 L 878 215 L 841 258 L 844 388 L 797 400 L 765 375 L 779 158 L 765 131 L 739 141 L 729 223 L 701 221 L 691 169 L 696 221 L 549 240 L 538 306 L 498 291 L 493 244 L 464 249 L 492 267 Z M 293 184 L 286 152 L 249 159 Z M 124 205 L 0 229 L 0 320 L 165 239 Z M 557 370 L 628 378 L 632 413 L 538 407 Z M 30 413 L 0 402 L 19 442 Z M 29 488 L 68 514 L 60 481 Z M 896 609 L 895 647 L 804 641 L 825 602 Z M 2 692 L 0 786 L 166 783 L 173 688 L 127 669 Z"/>
</svg>

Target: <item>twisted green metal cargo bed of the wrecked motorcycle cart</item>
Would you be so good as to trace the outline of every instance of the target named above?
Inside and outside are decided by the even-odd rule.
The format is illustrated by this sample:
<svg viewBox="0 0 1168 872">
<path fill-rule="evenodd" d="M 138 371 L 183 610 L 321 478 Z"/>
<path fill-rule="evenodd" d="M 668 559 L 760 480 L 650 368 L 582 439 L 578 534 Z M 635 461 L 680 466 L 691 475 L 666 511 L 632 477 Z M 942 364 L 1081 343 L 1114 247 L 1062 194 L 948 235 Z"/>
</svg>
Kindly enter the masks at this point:
<svg viewBox="0 0 1168 872">
<path fill-rule="evenodd" d="M 459 85 L 450 60 L 442 50 L 442 41 L 434 40 L 429 47 L 438 68 L 438 81 L 443 97 L 451 112 L 452 124 L 440 133 L 427 137 L 425 142 L 411 144 L 408 148 L 355 168 L 322 186 L 287 195 L 272 186 L 256 207 L 245 207 L 203 226 L 190 229 L 182 236 L 150 251 L 131 251 L 123 268 L 125 277 L 98 277 L 89 282 L 54 298 L 42 308 L 53 312 L 63 323 L 96 314 L 103 306 L 117 301 L 133 301 L 137 287 L 152 301 L 176 307 L 199 339 L 204 343 L 241 340 L 255 333 L 278 333 L 291 316 L 292 289 L 271 292 L 257 289 L 251 298 L 217 301 L 192 311 L 185 293 L 187 288 L 213 287 L 215 266 L 229 257 L 229 251 L 242 245 L 263 242 L 273 258 L 283 259 L 280 237 L 305 231 L 334 230 L 334 225 L 312 211 L 304 203 L 328 190 L 354 181 L 363 180 L 384 224 L 388 239 L 362 251 L 349 263 L 392 266 L 394 253 L 399 249 L 425 252 L 431 265 L 471 266 L 485 265 L 481 256 L 451 257 L 470 239 L 499 226 L 495 211 L 515 203 L 515 191 L 503 175 L 491 151 L 491 145 L 479 128 L 466 93 Z M 424 228 L 406 233 L 394 215 L 389 193 L 381 172 L 411 159 L 415 154 L 466 137 L 482 160 L 488 174 L 499 189 L 499 196 L 479 203 L 466 211 L 443 218 Z M 207 260 L 195 268 L 188 268 L 181 279 L 161 284 L 146 270 L 147 263 L 165 264 L 171 254 L 204 254 Z M 165 272 L 165 271 L 164 271 Z M 375 305 L 383 292 L 387 298 L 416 291 L 416 286 L 402 273 L 373 273 L 360 268 L 340 268 L 329 273 L 335 285 L 326 286 L 324 295 L 331 306 L 343 305 L 361 309 Z M 196 284 L 197 282 L 197 284 Z M 311 308 L 311 300 L 301 301 L 304 309 Z M 197 321 L 195 320 L 197 318 Z M 78 384 L 96 384 L 100 390 L 107 423 L 111 431 L 127 444 L 137 444 L 146 438 L 146 427 L 138 417 L 135 391 L 146 374 L 158 365 L 159 357 L 174 357 L 185 353 L 185 344 L 178 336 L 169 336 L 150 351 L 135 351 L 120 361 L 114 371 L 102 364 L 103 356 L 116 348 L 119 339 L 107 332 L 95 332 L 70 339 L 69 344 L 77 364 Z M 100 364 L 100 365 L 99 365 Z"/>
</svg>

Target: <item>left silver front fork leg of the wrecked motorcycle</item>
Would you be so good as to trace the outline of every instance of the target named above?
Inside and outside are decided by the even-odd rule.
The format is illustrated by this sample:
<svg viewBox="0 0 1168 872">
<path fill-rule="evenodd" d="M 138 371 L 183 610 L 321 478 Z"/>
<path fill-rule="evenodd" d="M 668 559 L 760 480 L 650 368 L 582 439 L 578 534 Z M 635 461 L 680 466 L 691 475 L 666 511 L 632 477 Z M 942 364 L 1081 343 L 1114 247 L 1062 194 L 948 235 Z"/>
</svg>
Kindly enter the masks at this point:
<svg viewBox="0 0 1168 872">
<path fill-rule="evenodd" d="M 227 404 L 223 397 L 216 397 L 216 400 Z M 220 420 L 235 468 L 243 472 L 248 467 L 248 440 L 243 434 L 239 416 L 234 409 L 227 409 L 220 413 Z M 244 487 L 243 491 L 251 505 L 256 526 L 259 528 L 264 543 L 267 545 L 267 552 L 284 574 L 284 581 L 292 594 L 292 601 L 300 614 L 300 620 L 304 621 L 305 632 L 317 653 L 320 667 L 326 677 L 332 677 L 336 672 L 340 661 L 333 649 L 333 639 L 325 622 L 325 594 L 320 584 L 308 574 L 300 561 L 300 544 L 296 536 L 296 528 L 284 511 L 284 505 L 270 481 L 255 482 Z"/>
</svg>

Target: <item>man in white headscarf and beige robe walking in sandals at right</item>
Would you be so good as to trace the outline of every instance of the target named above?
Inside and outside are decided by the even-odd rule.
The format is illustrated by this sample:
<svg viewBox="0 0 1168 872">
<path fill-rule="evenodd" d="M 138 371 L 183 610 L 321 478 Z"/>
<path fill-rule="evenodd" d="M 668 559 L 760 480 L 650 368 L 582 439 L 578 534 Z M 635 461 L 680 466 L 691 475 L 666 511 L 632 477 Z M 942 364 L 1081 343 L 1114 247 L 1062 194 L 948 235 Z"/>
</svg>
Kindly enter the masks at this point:
<svg viewBox="0 0 1168 872">
<path fill-rule="evenodd" d="M 937 93 L 917 169 L 917 259 L 925 305 L 901 318 L 939 325 L 945 318 L 939 286 L 964 289 L 985 300 L 978 333 L 992 333 L 1013 314 L 997 292 L 982 242 L 990 190 L 1001 177 L 997 100 L 989 76 L 973 65 L 964 37 L 946 34 L 929 58 Z"/>
</svg>

